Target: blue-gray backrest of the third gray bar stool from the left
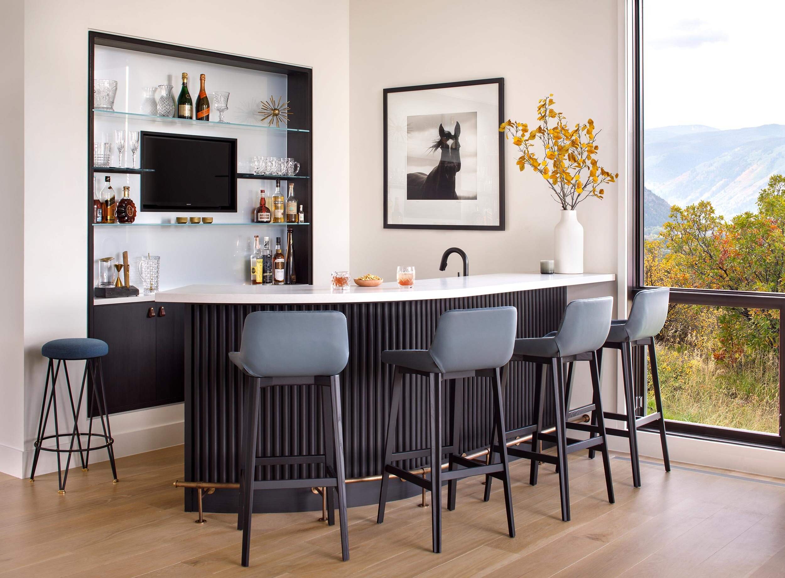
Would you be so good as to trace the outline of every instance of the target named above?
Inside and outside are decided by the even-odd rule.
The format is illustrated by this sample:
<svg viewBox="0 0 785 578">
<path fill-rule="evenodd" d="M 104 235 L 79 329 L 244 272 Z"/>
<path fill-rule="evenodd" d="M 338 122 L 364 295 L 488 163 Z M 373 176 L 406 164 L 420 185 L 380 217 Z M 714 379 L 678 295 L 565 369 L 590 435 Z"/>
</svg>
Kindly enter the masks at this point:
<svg viewBox="0 0 785 578">
<path fill-rule="evenodd" d="M 611 329 L 612 310 L 612 297 L 569 302 L 556 335 L 561 357 L 600 349 Z"/>
</svg>

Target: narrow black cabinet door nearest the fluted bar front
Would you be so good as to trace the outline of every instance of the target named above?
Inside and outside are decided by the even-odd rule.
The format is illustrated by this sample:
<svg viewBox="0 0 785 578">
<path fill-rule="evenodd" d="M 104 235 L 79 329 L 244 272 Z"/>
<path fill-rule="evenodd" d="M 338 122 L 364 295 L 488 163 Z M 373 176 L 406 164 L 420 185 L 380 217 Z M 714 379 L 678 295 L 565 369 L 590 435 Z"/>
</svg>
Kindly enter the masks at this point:
<svg viewBox="0 0 785 578">
<path fill-rule="evenodd" d="M 155 399 L 158 404 L 184 400 L 185 305 L 155 305 Z"/>
</svg>

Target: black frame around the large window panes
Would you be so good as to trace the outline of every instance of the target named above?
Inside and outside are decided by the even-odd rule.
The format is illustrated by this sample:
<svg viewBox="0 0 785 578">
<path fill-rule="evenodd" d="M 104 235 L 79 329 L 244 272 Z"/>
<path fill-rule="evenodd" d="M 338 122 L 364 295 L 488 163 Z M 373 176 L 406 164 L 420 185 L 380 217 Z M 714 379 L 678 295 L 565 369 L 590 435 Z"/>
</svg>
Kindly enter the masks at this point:
<svg viewBox="0 0 785 578">
<path fill-rule="evenodd" d="M 632 224 L 633 243 L 630 254 L 630 287 L 631 293 L 647 289 L 642 284 L 644 280 L 644 62 L 643 62 L 643 4 L 645 0 L 630 0 L 631 14 L 631 40 L 632 40 L 632 102 L 633 107 L 633 184 L 632 196 Z M 630 20 L 628 20 L 630 21 Z M 688 289 L 671 287 L 670 302 L 685 305 L 713 305 L 720 307 L 747 307 L 755 309 L 778 309 L 780 312 L 780 419 L 779 433 L 764 433 L 736 428 L 709 426 L 699 423 L 687 423 L 666 420 L 668 433 L 687 437 L 699 437 L 711 441 L 724 441 L 735 444 L 763 446 L 785 450 L 785 436 L 783 436 L 783 397 L 785 397 L 785 335 L 782 331 L 783 313 L 785 313 L 785 294 L 765 293 L 757 291 L 722 291 L 714 289 Z M 639 404 L 637 412 L 646 411 L 646 360 L 643 348 L 636 352 L 633 360 L 635 373 L 635 395 L 643 399 L 642 407 Z M 652 426 L 644 426 L 643 430 L 654 430 Z"/>
</svg>

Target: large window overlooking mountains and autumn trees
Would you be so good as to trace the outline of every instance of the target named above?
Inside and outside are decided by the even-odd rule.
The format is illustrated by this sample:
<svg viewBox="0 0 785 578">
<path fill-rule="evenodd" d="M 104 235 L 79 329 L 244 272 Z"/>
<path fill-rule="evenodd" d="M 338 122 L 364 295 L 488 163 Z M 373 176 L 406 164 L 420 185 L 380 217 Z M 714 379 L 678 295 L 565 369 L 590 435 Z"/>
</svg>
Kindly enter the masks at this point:
<svg viewBox="0 0 785 578">
<path fill-rule="evenodd" d="M 782 445 L 785 75 L 772 61 L 785 2 L 635 7 L 637 284 L 673 288 L 666 416 L 674 431 Z"/>
</svg>

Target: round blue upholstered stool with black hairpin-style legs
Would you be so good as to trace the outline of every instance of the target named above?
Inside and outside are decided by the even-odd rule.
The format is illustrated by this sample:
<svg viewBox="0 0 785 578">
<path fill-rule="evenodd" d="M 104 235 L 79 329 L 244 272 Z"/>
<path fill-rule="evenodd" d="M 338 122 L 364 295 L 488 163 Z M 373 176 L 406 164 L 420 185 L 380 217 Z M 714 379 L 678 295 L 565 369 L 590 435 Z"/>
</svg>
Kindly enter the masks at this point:
<svg viewBox="0 0 785 578">
<path fill-rule="evenodd" d="M 100 339 L 89 338 L 70 338 L 55 339 L 47 342 L 41 348 L 41 354 L 49 357 L 49 366 L 46 368 L 46 384 L 44 386 L 44 397 L 41 404 L 41 418 L 38 419 L 38 436 L 35 439 L 35 454 L 33 455 L 33 466 L 30 471 L 30 481 L 35 479 L 35 466 L 38 463 L 38 455 L 43 452 L 57 452 L 57 485 L 60 494 L 65 493 L 65 482 L 68 480 L 68 467 L 71 466 L 71 454 L 79 452 L 79 459 L 82 462 L 82 471 L 87 470 L 89 464 L 90 450 L 106 448 L 111 463 L 111 473 L 113 481 L 117 481 L 117 469 L 115 468 L 115 451 L 112 444 L 115 440 L 111 437 L 111 427 L 109 426 L 109 414 L 106 411 L 106 393 L 104 392 L 104 371 L 101 368 L 100 358 L 109 353 L 109 346 Z M 57 366 L 55 361 L 57 360 Z M 79 401 L 74 404 L 74 396 L 71 393 L 71 379 L 68 377 L 68 364 L 66 361 L 85 360 L 85 372 L 82 375 L 82 388 L 79 390 Z M 57 376 L 60 375 L 60 365 L 63 367 L 65 382 L 68 390 L 68 401 L 71 402 L 71 415 L 74 417 L 74 429 L 71 433 L 60 433 L 60 425 L 57 420 Z M 51 390 L 49 389 L 49 379 L 51 378 Z M 90 387 L 87 396 L 90 401 L 88 404 L 92 411 L 89 411 L 89 429 L 87 433 L 79 433 L 79 410 L 82 407 L 82 397 L 85 393 L 85 385 L 88 382 Z M 47 399 L 47 393 L 49 397 Z M 46 423 L 49 421 L 49 412 L 54 414 L 55 433 L 46 435 Z M 93 433 L 93 418 L 100 418 L 101 427 L 104 433 Z M 82 436 L 87 437 L 86 448 L 82 448 Z M 71 444 L 68 449 L 60 448 L 60 437 L 71 437 Z M 103 442 L 100 445 L 93 445 L 93 437 L 99 437 Z M 45 440 L 54 439 L 54 448 L 44 448 Z M 74 443 L 77 448 L 74 449 Z M 65 473 L 60 466 L 60 454 L 67 453 L 68 460 L 65 463 Z"/>
</svg>

